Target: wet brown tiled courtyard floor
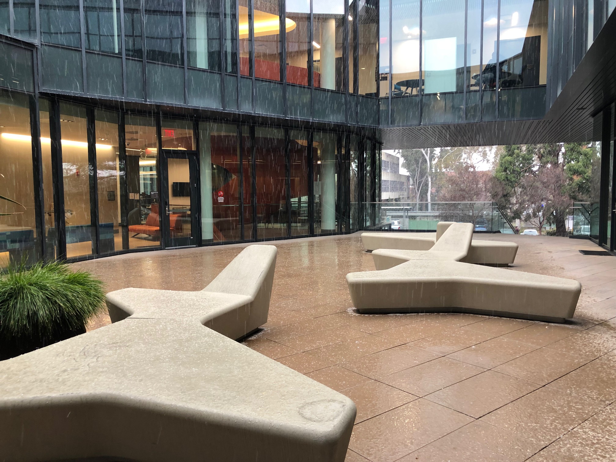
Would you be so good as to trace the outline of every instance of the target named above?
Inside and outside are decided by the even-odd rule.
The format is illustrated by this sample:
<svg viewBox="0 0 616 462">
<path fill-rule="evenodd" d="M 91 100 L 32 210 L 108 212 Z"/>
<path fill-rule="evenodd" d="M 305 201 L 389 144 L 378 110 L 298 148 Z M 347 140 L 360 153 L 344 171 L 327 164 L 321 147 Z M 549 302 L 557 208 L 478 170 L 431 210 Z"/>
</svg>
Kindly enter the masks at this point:
<svg viewBox="0 0 616 462">
<path fill-rule="evenodd" d="M 616 257 L 583 256 L 598 249 L 584 240 L 476 238 L 519 243 L 510 270 L 580 280 L 573 321 L 357 314 L 344 276 L 374 265 L 355 234 L 274 243 L 269 322 L 245 344 L 354 400 L 349 462 L 616 460 Z M 198 290 L 242 247 L 76 266 L 107 290 Z"/>
</svg>

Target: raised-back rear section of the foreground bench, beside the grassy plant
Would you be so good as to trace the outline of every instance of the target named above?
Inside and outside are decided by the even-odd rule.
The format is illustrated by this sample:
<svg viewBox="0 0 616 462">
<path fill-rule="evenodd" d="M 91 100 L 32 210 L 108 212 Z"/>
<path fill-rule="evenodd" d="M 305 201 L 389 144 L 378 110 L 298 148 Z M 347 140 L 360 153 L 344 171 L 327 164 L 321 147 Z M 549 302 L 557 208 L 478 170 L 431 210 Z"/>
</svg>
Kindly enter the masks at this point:
<svg viewBox="0 0 616 462">
<path fill-rule="evenodd" d="M 196 292 L 127 288 L 107 294 L 111 322 L 132 318 L 187 318 L 232 339 L 267 322 L 277 249 L 250 245 L 209 285 Z"/>
</svg>

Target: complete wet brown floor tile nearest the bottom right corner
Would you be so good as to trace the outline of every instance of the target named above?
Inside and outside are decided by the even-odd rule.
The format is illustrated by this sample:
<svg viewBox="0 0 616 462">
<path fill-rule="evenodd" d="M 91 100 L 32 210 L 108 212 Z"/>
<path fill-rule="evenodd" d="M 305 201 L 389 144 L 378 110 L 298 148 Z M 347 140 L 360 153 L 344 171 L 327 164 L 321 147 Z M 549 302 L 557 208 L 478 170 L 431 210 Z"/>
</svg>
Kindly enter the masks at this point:
<svg viewBox="0 0 616 462">
<path fill-rule="evenodd" d="M 542 387 L 481 418 L 486 423 L 548 445 L 601 410 L 602 404 Z"/>
</svg>

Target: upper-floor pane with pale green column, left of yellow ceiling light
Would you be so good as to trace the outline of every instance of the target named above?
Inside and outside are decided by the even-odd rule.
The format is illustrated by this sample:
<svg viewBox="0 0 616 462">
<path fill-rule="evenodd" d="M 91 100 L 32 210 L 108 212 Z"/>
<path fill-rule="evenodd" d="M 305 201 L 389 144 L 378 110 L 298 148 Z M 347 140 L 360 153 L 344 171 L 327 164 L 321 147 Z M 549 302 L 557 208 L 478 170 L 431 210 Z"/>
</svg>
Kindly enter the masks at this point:
<svg viewBox="0 0 616 462">
<path fill-rule="evenodd" d="M 189 66 L 221 71 L 219 1 L 186 1 L 186 46 Z"/>
</svg>

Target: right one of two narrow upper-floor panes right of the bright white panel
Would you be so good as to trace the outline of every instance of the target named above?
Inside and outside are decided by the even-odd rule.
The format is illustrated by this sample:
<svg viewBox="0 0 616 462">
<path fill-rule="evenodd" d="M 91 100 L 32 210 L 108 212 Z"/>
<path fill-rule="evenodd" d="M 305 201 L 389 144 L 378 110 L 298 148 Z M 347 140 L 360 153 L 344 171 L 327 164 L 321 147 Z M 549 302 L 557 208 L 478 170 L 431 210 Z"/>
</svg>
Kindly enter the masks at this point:
<svg viewBox="0 0 616 462">
<path fill-rule="evenodd" d="M 496 33 L 498 0 L 484 0 L 484 43 L 482 46 L 482 118 L 496 118 Z"/>
</svg>

